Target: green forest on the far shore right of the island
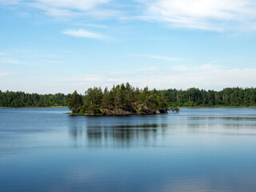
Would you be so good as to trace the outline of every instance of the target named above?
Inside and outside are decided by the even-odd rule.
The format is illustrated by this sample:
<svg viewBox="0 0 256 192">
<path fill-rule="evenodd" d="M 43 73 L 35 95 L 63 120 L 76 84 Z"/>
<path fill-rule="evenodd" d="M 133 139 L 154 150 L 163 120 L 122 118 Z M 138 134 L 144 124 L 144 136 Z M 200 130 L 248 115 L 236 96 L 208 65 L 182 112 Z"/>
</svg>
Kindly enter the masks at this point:
<svg viewBox="0 0 256 192">
<path fill-rule="evenodd" d="M 256 106 L 256 88 L 164 90 L 170 106 Z"/>
</svg>

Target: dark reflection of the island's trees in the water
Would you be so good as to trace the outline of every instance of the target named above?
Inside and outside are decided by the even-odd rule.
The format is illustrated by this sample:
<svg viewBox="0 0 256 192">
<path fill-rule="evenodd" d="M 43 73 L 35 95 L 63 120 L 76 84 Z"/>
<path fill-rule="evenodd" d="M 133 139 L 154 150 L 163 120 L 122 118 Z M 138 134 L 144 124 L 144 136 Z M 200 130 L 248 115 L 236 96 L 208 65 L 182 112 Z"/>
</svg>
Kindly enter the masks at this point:
<svg viewBox="0 0 256 192">
<path fill-rule="evenodd" d="M 82 118 L 82 117 L 81 117 Z M 90 121 L 87 118 L 86 125 L 70 126 L 70 136 L 76 143 L 86 140 L 86 146 L 90 147 L 130 147 L 143 146 L 156 141 L 158 135 L 165 131 L 166 124 L 146 123 L 113 123 L 105 124 Z M 160 132 L 160 134 L 159 134 Z M 77 143 L 78 144 L 78 143 Z"/>
</svg>

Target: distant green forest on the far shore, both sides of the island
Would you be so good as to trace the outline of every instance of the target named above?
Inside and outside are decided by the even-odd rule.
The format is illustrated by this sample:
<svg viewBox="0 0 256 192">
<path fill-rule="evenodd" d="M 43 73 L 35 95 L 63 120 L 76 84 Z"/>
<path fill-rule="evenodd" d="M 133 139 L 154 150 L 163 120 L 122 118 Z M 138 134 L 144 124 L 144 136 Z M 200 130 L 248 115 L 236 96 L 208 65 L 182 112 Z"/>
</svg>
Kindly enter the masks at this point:
<svg viewBox="0 0 256 192">
<path fill-rule="evenodd" d="M 226 88 L 221 91 L 199 90 L 157 90 L 164 94 L 168 106 L 256 106 L 256 88 Z M 46 107 L 67 106 L 71 94 L 26 94 L 0 90 L 0 107 Z M 86 96 L 82 95 L 85 100 Z M 84 101 L 86 102 L 86 101 Z"/>
</svg>

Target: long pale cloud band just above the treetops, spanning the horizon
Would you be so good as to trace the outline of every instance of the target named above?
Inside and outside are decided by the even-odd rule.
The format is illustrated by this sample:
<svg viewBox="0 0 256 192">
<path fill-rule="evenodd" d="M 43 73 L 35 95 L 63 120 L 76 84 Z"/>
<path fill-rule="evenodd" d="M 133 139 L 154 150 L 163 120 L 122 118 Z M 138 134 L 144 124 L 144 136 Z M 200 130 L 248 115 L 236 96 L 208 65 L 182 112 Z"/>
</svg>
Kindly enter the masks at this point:
<svg viewBox="0 0 256 192">
<path fill-rule="evenodd" d="M 133 86 L 142 88 L 149 86 L 150 89 L 183 89 L 198 87 L 206 90 L 222 90 L 225 87 L 251 87 L 256 85 L 256 68 L 233 68 L 225 69 L 219 66 L 194 66 L 197 70 L 190 70 L 193 66 L 184 66 L 183 70 L 158 69 L 150 66 L 145 69 L 130 69 L 123 71 L 121 68 L 114 71 L 98 70 L 94 73 L 58 74 L 58 76 L 40 76 L 40 74 L 24 76 L 18 74 L 6 74 L 1 70 L 0 84 L 2 90 L 23 90 L 37 93 L 66 94 L 78 90 L 84 93 L 86 89 L 94 86 L 112 87 L 113 84 L 130 82 Z M 145 71 L 144 71 L 145 70 Z M 5 75 L 5 76 L 4 76 Z M 38 76 L 39 75 L 39 76 Z M 2 82 L 1 82 L 2 81 Z"/>
</svg>

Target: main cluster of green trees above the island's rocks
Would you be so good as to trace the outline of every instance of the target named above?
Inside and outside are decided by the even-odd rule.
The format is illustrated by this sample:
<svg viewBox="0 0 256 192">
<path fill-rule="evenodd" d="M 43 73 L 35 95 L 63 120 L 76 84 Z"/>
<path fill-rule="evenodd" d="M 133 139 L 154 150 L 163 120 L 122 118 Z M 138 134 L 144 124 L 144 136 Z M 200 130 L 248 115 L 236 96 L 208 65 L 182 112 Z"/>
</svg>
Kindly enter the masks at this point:
<svg viewBox="0 0 256 192">
<path fill-rule="evenodd" d="M 143 104 L 151 110 L 167 106 L 165 94 L 157 90 L 149 90 L 145 87 L 139 90 L 127 82 L 118 86 L 113 86 L 111 90 L 106 87 L 102 91 L 101 87 L 89 88 L 85 93 L 86 102 L 82 110 L 87 114 L 101 114 L 101 109 L 123 109 L 129 110 L 133 104 Z"/>
</svg>

